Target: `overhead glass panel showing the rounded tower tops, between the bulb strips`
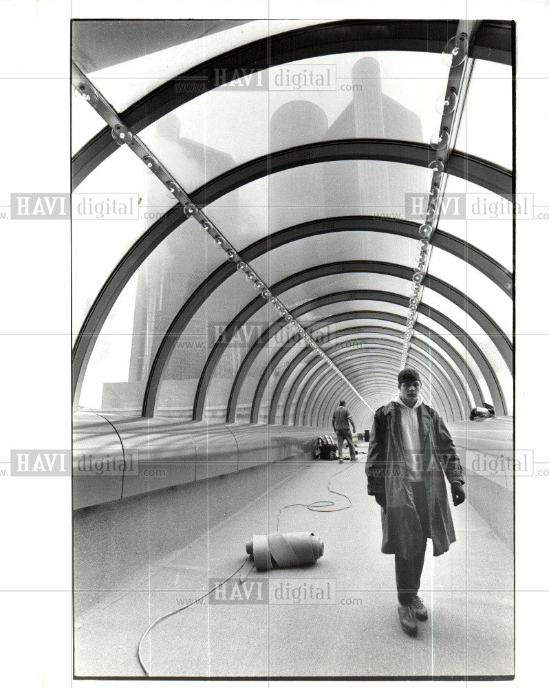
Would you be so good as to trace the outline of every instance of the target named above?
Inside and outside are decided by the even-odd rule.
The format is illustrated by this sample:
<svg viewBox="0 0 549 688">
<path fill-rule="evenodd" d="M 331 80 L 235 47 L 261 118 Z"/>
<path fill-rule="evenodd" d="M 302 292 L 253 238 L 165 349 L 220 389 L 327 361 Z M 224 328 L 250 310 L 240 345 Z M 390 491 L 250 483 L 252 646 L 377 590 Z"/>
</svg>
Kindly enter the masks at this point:
<svg viewBox="0 0 549 688">
<path fill-rule="evenodd" d="M 235 164 L 297 145 L 349 138 L 428 142 L 440 127 L 434 104 L 447 78 L 439 54 L 309 58 L 258 72 L 249 85 L 238 80 L 193 98 L 140 137 L 189 191 Z M 166 144 L 166 131 L 175 134 L 177 147 Z M 387 169 L 379 180 L 380 186 L 396 182 Z M 365 181 L 357 175 L 354 186 Z"/>
</svg>

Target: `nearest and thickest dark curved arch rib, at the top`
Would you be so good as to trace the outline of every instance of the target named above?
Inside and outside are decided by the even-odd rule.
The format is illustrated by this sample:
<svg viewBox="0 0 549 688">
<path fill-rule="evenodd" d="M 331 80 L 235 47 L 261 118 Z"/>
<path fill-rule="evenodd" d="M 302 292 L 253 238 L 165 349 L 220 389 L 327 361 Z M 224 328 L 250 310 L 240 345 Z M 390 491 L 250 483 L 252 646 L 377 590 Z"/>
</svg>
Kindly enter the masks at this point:
<svg viewBox="0 0 549 688">
<path fill-rule="evenodd" d="M 122 121 L 138 133 L 176 107 L 236 76 L 286 62 L 329 54 L 371 50 L 442 52 L 457 21 L 345 20 L 268 36 L 215 56 L 169 79 L 121 113 Z M 453 33 L 452 33 L 453 32 Z M 513 25 L 484 21 L 475 35 L 471 56 L 510 65 Z M 184 87 L 177 87 L 180 82 Z M 72 158 L 73 191 L 118 147 L 105 127 Z"/>
</svg>

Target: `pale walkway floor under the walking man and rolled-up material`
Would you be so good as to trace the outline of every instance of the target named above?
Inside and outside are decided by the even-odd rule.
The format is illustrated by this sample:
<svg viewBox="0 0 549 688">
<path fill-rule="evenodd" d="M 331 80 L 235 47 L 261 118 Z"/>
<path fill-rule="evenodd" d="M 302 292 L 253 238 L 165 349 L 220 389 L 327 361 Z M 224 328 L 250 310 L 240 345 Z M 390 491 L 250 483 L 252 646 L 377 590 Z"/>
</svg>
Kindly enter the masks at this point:
<svg viewBox="0 0 549 688">
<path fill-rule="evenodd" d="M 137 647 L 147 627 L 240 566 L 246 541 L 276 530 L 281 507 L 326 499 L 349 504 L 327 490 L 330 477 L 352 506 L 334 513 L 287 508 L 279 528 L 319 535 L 323 557 L 303 568 L 254 569 L 245 587 L 237 575 L 217 599 L 213 593 L 162 621 L 143 643 L 151 676 L 512 675 L 513 552 L 469 504 L 452 508 L 458 541 L 436 558 L 429 541 L 420 590 L 429 621 L 420 623 L 416 638 L 406 636 L 398 623 L 394 557 L 380 552 L 380 508 L 367 496 L 365 454 L 358 456 L 343 466 L 303 464 L 189 547 L 150 561 L 149 576 L 135 590 L 107 594 L 85 614 L 78 613 L 75 592 L 76 676 L 143 676 Z"/>
</svg>

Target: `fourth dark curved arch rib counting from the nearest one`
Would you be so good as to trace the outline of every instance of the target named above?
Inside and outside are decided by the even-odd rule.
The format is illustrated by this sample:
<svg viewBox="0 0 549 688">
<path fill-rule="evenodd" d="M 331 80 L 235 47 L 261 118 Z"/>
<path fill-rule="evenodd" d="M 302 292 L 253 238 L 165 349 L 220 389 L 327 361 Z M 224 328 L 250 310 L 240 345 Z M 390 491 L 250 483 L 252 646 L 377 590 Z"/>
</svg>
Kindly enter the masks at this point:
<svg viewBox="0 0 549 688">
<path fill-rule="evenodd" d="M 411 268 L 406 268 L 404 266 L 398 266 L 392 263 L 384 263 L 381 261 L 347 261 L 336 262 L 332 264 L 325 264 L 323 266 L 314 266 L 313 268 L 308 268 L 307 270 L 302 270 L 296 275 L 292 275 L 286 279 L 279 281 L 275 286 L 271 288 L 272 294 L 279 296 L 286 290 L 293 288 L 306 281 L 311 281 L 318 277 L 326 277 L 327 275 L 336 275 L 338 273 L 346 272 L 374 272 L 383 275 L 391 275 L 393 277 L 402 277 L 402 279 L 411 280 L 413 275 L 413 270 Z M 459 290 L 453 288 L 446 282 L 432 276 L 427 276 L 424 279 L 424 284 L 431 288 L 433 291 L 442 294 L 444 297 L 449 299 L 459 308 L 464 310 L 464 312 L 469 313 L 473 320 L 480 325 L 482 330 L 486 332 L 487 336 L 491 338 L 491 341 L 497 347 L 497 350 L 502 354 L 504 361 L 508 365 L 509 369 L 513 365 L 513 352 L 510 343 L 505 337 L 502 330 L 499 329 L 498 325 L 477 305 L 474 301 L 471 301 L 465 294 Z M 206 365 L 202 370 L 202 375 L 197 387 L 197 392 L 195 396 L 195 404 L 193 410 L 193 420 L 202 420 L 204 415 L 204 402 L 206 400 L 206 392 L 208 384 L 213 376 L 213 372 L 219 358 L 221 358 L 223 352 L 226 350 L 230 338 L 233 334 L 237 332 L 239 327 L 243 325 L 257 310 L 265 305 L 264 299 L 257 297 L 253 301 L 250 301 L 246 308 L 241 310 L 237 316 L 227 325 L 226 330 L 219 337 L 219 340 L 213 346 Z M 429 308 L 427 307 L 427 310 Z M 175 337 L 171 336 L 172 339 Z M 171 345 L 175 345 L 174 342 Z M 160 379 L 160 378 L 159 378 Z M 151 415 L 153 415 L 153 409 L 149 409 Z"/>
</svg>

